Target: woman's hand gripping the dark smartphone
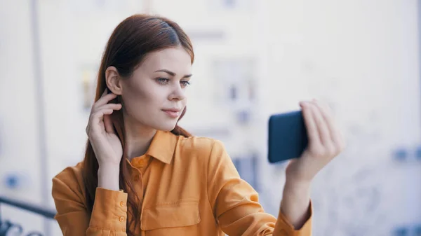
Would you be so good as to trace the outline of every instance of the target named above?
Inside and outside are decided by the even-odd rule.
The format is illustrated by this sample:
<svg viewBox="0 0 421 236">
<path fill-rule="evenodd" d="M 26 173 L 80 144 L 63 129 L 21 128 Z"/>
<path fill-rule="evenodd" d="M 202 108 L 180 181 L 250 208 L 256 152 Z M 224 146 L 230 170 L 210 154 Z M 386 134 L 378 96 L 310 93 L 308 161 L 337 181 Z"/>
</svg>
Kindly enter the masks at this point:
<svg viewBox="0 0 421 236">
<path fill-rule="evenodd" d="M 345 148 L 345 141 L 327 104 L 313 99 L 300 102 L 307 128 L 308 146 L 300 158 L 290 160 L 286 180 L 310 183 L 314 176 Z"/>
</svg>

